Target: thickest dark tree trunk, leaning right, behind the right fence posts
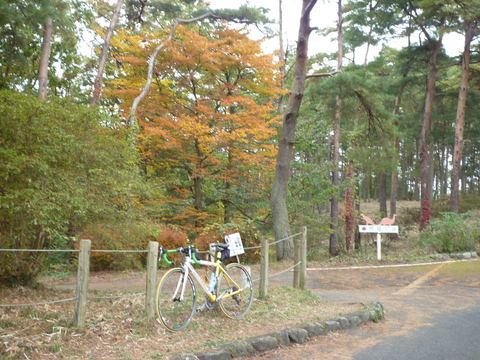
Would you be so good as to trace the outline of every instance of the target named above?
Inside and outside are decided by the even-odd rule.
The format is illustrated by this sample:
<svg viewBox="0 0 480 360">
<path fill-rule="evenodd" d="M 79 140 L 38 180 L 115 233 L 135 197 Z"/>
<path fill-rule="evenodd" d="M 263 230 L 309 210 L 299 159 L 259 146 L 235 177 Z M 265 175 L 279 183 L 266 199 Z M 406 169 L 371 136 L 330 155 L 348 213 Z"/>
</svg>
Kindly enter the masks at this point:
<svg viewBox="0 0 480 360">
<path fill-rule="evenodd" d="M 300 110 L 305 90 L 308 61 L 308 38 L 312 31 L 310 28 L 310 12 L 316 2 L 316 0 L 303 0 L 292 90 L 283 115 L 283 126 L 280 132 L 271 197 L 273 229 L 276 240 L 285 239 L 291 235 L 286 200 L 287 185 L 290 179 L 290 162 L 293 157 L 293 144 L 295 141 L 295 128 L 297 126 L 298 112 Z M 293 258 L 292 239 L 277 243 L 277 259 L 281 260 L 287 258 Z"/>
</svg>

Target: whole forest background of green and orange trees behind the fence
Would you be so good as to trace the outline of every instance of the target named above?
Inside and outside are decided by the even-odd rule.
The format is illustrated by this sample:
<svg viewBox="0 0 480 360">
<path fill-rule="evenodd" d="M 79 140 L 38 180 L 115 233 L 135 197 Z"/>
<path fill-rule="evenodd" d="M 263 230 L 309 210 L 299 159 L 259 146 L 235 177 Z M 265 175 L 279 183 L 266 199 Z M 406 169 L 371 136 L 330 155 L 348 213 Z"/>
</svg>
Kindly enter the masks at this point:
<svg viewBox="0 0 480 360">
<path fill-rule="evenodd" d="M 231 231 L 249 245 L 307 226 L 310 256 L 326 239 L 335 256 L 362 246 L 360 199 L 378 199 L 375 220 L 418 200 L 397 220 L 427 232 L 437 213 L 463 219 L 452 214 L 479 192 L 480 2 L 337 4 L 337 26 L 314 28 L 317 1 L 299 2 L 298 40 L 284 47 L 282 16 L 274 25 L 262 7 L 2 2 L 0 248 L 201 248 Z M 313 32 L 338 51 L 309 54 Z M 458 56 L 448 33 L 464 38 Z M 478 246 L 472 236 L 438 250 Z M 29 282 L 64 260 L 0 252 L 0 280 Z M 123 262 L 97 259 L 138 265 Z"/>
</svg>

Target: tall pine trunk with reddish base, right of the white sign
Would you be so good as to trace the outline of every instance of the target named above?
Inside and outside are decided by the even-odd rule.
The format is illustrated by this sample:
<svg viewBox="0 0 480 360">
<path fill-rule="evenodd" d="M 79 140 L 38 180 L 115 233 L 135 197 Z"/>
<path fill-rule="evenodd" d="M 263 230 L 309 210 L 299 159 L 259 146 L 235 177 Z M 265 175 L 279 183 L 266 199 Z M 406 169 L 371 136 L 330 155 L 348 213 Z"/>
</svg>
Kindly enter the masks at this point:
<svg viewBox="0 0 480 360">
<path fill-rule="evenodd" d="M 438 42 L 428 37 L 430 48 L 429 67 L 430 73 L 428 77 L 427 91 L 425 97 L 425 109 L 423 113 L 422 130 L 418 141 L 418 153 L 420 158 L 420 196 L 421 196 L 421 213 L 420 213 L 420 231 L 425 229 L 430 222 L 430 169 L 427 141 L 428 135 L 432 128 L 432 109 L 435 100 L 435 85 L 437 82 L 437 55 L 442 47 L 442 36 Z"/>
</svg>

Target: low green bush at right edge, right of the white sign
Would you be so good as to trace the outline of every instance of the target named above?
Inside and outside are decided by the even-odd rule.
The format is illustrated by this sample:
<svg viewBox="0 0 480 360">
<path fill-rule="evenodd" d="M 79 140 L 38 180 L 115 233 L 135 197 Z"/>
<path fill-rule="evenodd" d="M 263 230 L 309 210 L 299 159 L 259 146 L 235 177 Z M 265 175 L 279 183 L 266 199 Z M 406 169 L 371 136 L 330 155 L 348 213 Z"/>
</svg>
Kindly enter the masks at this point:
<svg viewBox="0 0 480 360">
<path fill-rule="evenodd" d="M 458 214 L 441 213 L 441 219 L 433 219 L 419 235 L 423 246 L 437 252 L 475 251 L 480 245 L 480 220 L 478 211 Z"/>
</svg>

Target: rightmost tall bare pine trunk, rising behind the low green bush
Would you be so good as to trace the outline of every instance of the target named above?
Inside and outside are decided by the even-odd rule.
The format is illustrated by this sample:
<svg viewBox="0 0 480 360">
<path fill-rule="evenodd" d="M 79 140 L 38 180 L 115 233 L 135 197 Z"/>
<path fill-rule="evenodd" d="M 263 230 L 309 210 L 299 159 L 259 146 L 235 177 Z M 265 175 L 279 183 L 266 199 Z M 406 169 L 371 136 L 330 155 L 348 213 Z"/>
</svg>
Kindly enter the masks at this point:
<svg viewBox="0 0 480 360">
<path fill-rule="evenodd" d="M 470 44 L 474 32 L 470 23 L 465 21 L 465 47 L 462 59 L 462 77 L 460 80 L 460 90 L 458 92 L 457 118 L 455 121 L 455 146 L 453 150 L 452 164 L 452 185 L 450 194 L 450 211 L 458 212 L 459 191 L 458 183 L 460 179 L 460 165 L 463 153 L 463 127 L 465 123 L 465 109 L 467 106 L 468 92 L 468 73 L 470 67 Z"/>
</svg>

